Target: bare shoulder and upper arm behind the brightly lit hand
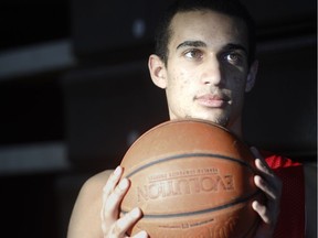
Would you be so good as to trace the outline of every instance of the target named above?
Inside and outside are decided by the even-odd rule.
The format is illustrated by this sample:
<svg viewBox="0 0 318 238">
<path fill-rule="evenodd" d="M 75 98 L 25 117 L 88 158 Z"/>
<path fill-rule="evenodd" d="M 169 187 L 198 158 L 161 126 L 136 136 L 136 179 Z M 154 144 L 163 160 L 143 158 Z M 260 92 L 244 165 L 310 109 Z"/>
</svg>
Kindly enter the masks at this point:
<svg viewBox="0 0 318 238">
<path fill-rule="evenodd" d="M 99 220 L 103 187 L 112 172 L 112 170 L 103 171 L 83 184 L 72 212 L 67 238 L 103 236 Z"/>
</svg>

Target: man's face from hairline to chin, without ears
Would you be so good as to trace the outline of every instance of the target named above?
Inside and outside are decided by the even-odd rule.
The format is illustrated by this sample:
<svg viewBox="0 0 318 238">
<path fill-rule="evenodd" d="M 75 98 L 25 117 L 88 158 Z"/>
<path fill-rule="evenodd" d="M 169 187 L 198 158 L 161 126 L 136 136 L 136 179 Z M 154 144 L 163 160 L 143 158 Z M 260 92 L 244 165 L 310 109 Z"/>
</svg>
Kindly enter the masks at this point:
<svg viewBox="0 0 318 238">
<path fill-rule="evenodd" d="M 241 123 L 246 90 L 245 24 L 212 11 L 178 13 L 166 75 L 171 119 L 199 118 L 224 127 Z"/>
</svg>

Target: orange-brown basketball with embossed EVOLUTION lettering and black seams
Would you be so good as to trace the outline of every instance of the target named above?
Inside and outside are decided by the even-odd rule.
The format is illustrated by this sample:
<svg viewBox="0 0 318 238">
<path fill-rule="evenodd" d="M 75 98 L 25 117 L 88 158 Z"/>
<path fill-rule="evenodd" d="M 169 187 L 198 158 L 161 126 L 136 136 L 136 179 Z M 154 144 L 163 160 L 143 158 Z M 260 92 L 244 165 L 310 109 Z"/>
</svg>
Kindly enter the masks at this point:
<svg viewBox="0 0 318 238">
<path fill-rule="evenodd" d="M 131 182 L 121 215 L 135 207 L 144 214 L 129 235 L 248 238 L 258 226 L 254 156 L 220 126 L 193 119 L 158 125 L 132 143 L 121 166 Z"/>
</svg>

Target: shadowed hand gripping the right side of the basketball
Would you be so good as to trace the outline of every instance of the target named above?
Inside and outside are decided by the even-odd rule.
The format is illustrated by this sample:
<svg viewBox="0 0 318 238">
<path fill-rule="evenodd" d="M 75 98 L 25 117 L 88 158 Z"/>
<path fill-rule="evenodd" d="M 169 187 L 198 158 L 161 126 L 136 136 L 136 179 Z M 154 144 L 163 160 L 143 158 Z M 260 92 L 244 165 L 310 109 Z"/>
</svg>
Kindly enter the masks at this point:
<svg viewBox="0 0 318 238">
<path fill-rule="evenodd" d="M 259 201 L 254 201 L 252 204 L 253 209 L 263 220 L 256 230 L 255 238 L 272 238 L 279 215 L 283 185 L 280 178 L 274 174 L 257 149 L 251 148 L 251 150 L 256 158 L 255 165 L 261 174 L 261 176 L 254 176 L 254 182 L 266 196 L 266 204 L 262 204 Z"/>
</svg>

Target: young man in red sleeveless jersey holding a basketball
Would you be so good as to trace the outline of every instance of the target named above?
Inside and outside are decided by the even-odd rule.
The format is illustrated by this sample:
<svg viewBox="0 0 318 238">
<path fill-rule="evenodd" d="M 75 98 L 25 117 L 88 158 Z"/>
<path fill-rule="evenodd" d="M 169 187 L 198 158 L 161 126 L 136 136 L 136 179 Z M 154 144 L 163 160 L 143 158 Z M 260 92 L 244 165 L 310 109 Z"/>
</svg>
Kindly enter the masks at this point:
<svg viewBox="0 0 318 238">
<path fill-rule="evenodd" d="M 148 66 L 153 84 L 166 90 L 170 119 L 213 121 L 243 139 L 244 94 L 253 88 L 257 73 L 252 26 L 245 9 L 233 0 L 183 0 L 167 11 L 158 31 L 156 54 L 150 55 Z M 255 148 L 252 152 L 262 175 L 254 177 L 255 184 L 267 197 L 265 204 L 253 202 L 262 219 L 255 237 L 305 237 L 303 198 L 299 214 L 294 210 L 296 217 L 300 215 L 298 228 L 282 234 L 282 229 L 288 228 L 284 221 L 279 225 L 282 181 L 269 166 L 293 167 L 293 176 L 299 174 L 300 183 L 303 169 L 276 155 L 266 155 L 266 163 Z M 121 174 L 118 166 L 110 176 L 105 171 L 85 183 L 72 214 L 68 238 L 127 237 L 126 231 L 142 212 L 136 207 L 119 218 L 119 204 L 129 188 L 129 181 Z M 284 172 L 280 175 L 285 176 Z M 284 190 L 288 196 L 289 190 Z M 304 197 L 301 188 L 299 193 Z M 135 237 L 147 234 L 141 231 Z"/>
</svg>

